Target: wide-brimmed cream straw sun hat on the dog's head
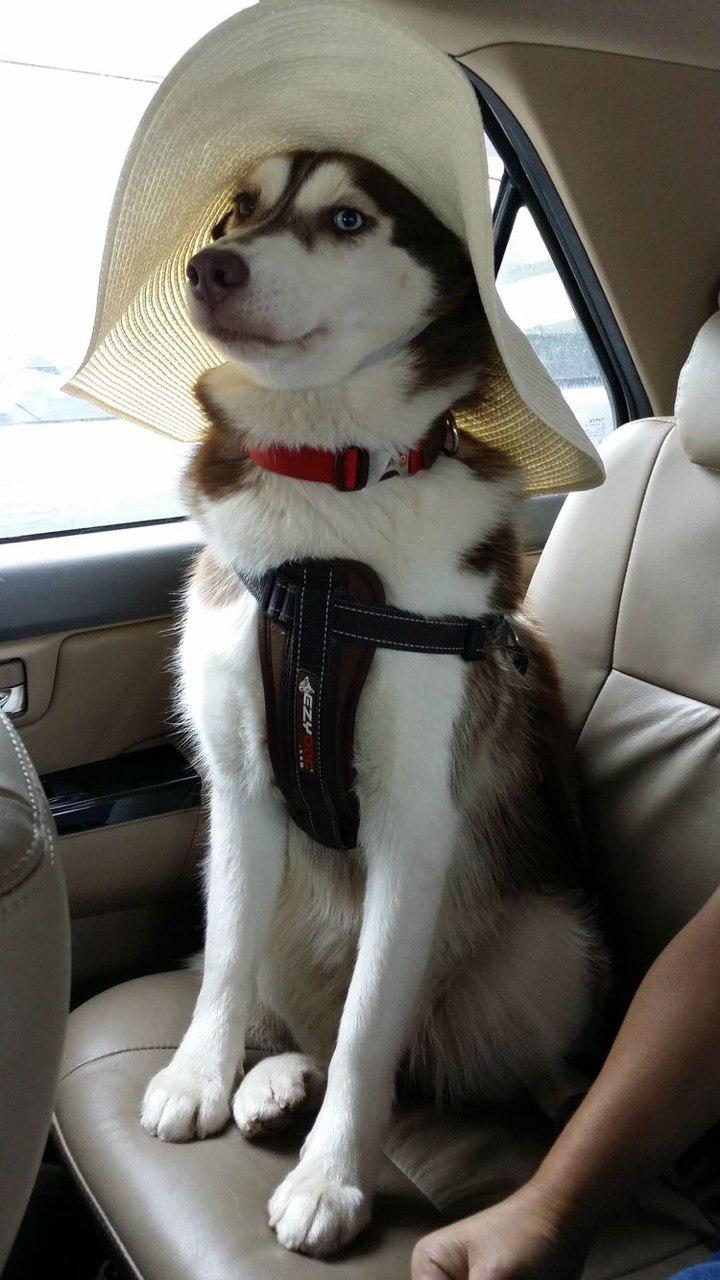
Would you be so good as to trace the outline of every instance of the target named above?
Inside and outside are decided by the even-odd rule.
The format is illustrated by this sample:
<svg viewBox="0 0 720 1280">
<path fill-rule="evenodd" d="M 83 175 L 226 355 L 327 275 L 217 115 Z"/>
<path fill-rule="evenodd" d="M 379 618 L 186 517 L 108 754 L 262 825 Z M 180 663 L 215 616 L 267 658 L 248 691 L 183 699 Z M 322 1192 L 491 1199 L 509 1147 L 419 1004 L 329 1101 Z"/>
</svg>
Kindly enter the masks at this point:
<svg viewBox="0 0 720 1280">
<path fill-rule="evenodd" d="M 273 152 L 374 160 L 468 244 L 497 351 L 457 426 L 506 449 L 528 493 L 603 467 L 495 287 L 478 104 L 439 50 L 354 0 L 263 0 L 181 59 L 133 138 L 108 228 L 87 356 L 67 389 L 177 439 L 202 434 L 192 387 L 222 362 L 184 306 L 184 269 L 242 174 Z"/>
</svg>

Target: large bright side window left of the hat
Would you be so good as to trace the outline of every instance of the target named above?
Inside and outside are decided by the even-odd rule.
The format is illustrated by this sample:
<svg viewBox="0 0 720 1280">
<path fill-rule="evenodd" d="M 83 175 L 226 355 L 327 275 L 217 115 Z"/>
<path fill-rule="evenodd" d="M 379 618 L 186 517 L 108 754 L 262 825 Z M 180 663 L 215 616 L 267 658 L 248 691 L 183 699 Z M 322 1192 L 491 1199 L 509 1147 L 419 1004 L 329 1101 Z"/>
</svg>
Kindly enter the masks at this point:
<svg viewBox="0 0 720 1280">
<path fill-rule="evenodd" d="M 181 515 L 187 453 L 60 387 L 95 312 L 120 166 L 158 82 L 205 31 L 252 0 L 40 0 L 0 36 L 0 538 Z M 70 10 L 70 14 L 68 13 Z M 79 38 L 82 36 L 82 38 Z"/>
</svg>

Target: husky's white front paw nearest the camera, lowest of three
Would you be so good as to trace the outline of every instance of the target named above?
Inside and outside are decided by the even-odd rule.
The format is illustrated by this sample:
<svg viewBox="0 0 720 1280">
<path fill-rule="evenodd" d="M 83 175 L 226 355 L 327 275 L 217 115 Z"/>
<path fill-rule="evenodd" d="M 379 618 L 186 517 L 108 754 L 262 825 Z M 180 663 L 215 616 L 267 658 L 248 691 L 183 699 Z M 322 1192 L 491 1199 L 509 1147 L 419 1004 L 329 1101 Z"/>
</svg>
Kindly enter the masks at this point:
<svg viewBox="0 0 720 1280">
<path fill-rule="evenodd" d="M 363 1230 L 370 1202 L 359 1187 L 329 1178 L 315 1161 L 301 1160 L 270 1198 L 268 1215 L 286 1249 L 322 1258 Z"/>
</svg>

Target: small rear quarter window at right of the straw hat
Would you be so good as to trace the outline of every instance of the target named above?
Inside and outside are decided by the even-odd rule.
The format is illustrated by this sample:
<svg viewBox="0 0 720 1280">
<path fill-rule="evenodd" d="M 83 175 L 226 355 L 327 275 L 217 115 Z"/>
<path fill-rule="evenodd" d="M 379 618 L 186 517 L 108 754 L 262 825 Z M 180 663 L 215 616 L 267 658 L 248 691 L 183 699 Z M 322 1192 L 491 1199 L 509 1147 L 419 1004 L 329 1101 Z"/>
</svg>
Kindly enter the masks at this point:
<svg viewBox="0 0 720 1280">
<path fill-rule="evenodd" d="M 615 426 L 602 370 L 528 209 L 518 211 L 497 275 L 510 317 L 596 444 Z"/>
</svg>

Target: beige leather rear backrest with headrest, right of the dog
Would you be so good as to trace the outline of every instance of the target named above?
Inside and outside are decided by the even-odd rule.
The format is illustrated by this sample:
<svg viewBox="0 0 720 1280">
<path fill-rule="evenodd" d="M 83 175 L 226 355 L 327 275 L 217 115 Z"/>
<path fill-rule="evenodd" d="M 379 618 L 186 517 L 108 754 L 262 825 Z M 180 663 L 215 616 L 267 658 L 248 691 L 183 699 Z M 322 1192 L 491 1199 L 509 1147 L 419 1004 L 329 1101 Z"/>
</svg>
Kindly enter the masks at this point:
<svg viewBox="0 0 720 1280">
<path fill-rule="evenodd" d="M 606 484 L 565 503 L 528 603 L 559 659 L 601 884 L 638 973 L 720 882 L 720 314 L 676 417 L 620 428 L 603 457 Z"/>
</svg>

